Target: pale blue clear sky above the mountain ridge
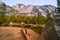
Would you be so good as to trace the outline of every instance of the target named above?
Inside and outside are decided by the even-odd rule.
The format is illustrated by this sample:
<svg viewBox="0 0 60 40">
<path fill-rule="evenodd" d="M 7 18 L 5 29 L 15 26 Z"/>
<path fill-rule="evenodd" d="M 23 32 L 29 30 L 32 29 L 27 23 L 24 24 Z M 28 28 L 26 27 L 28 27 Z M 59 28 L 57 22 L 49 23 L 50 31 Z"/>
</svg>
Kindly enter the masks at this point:
<svg viewBox="0 0 60 40">
<path fill-rule="evenodd" d="M 7 5 L 16 5 L 17 3 L 25 5 L 53 5 L 57 6 L 57 0 L 2 0 Z"/>
</svg>

